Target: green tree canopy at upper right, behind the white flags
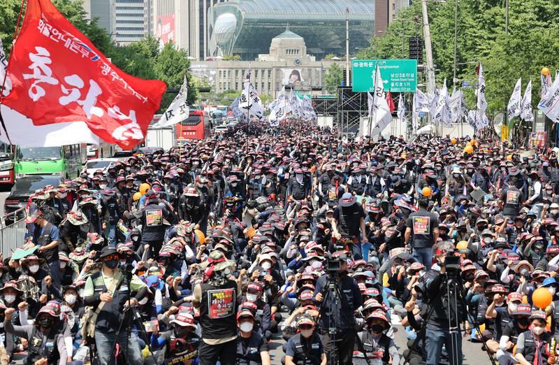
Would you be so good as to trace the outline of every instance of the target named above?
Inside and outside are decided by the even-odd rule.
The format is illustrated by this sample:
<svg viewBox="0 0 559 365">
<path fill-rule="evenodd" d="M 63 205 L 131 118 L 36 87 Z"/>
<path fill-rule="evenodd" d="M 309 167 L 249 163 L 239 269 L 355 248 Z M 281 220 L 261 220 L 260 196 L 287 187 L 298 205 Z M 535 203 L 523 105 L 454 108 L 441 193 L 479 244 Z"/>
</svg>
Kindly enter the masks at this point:
<svg viewBox="0 0 559 365">
<path fill-rule="evenodd" d="M 476 82 L 477 63 L 484 66 L 488 117 L 501 113 L 507 106 L 514 85 L 522 77 L 522 92 L 532 78 L 532 107 L 540 98 L 539 76 L 542 68 L 559 69 L 559 24 L 554 19 L 559 13 L 559 1 L 509 0 L 509 29 L 505 35 L 504 0 L 458 1 L 458 37 L 456 78 Z M 452 90 L 454 55 L 454 4 L 428 2 L 433 62 L 437 83 L 447 78 Z M 419 17 L 418 36 L 423 37 L 421 1 L 400 10 L 398 19 Z M 388 31 L 372 38 L 359 59 L 399 59 L 402 57 L 402 29 L 405 31 L 405 55 L 409 56 L 407 40 L 416 33 L 414 22 L 393 21 Z M 424 38 L 424 37 L 423 37 Z M 424 48 L 423 48 L 424 49 Z M 423 57 L 426 60 L 426 57 Z M 552 71 L 553 72 L 553 71 Z M 554 77 L 554 75 L 552 75 Z M 468 106 L 473 107 L 474 89 L 464 90 Z"/>
</svg>

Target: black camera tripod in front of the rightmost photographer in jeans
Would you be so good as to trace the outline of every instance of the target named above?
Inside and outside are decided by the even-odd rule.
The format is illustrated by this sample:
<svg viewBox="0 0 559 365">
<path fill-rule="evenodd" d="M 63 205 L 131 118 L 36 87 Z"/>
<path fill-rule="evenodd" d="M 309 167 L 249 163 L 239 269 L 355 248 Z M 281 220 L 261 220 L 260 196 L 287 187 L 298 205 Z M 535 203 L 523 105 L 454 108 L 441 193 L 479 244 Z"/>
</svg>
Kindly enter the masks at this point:
<svg viewBox="0 0 559 365">
<path fill-rule="evenodd" d="M 431 317 L 431 315 L 433 315 L 433 312 L 435 311 L 435 304 L 442 299 L 442 294 L 444 294 L 445 292 L 447 293 L 447 301 L 449 306 L 448 308 L 449 312 L 447 313 L 447 317 L 449 318 L 449 335 L 453 340 L 451 343 L 451 347 L 452 347 L 451 352 L 455 357 L 454 359 L 449 359 L 449 360 L 451 364 L 460 363 L 461 359 L 458 359 L 458 351 L 457 351 L 458 341 L 461 341 L 460 336 L 462 336 L 462 332 L 465 332 L 465 329 L 460 329 L 460 322 L 462 321 L 460 320 L 460 318 L 458 318 L 458 302 L 460 303 L 460 306 L 462 306 L 463 310 L 467 310 L 467 305 L 462 295 L 463 286 L 462 286 L 462 282 L 460 281 L 458 269 L 457 268 L 447 269 L 447 271 L 448 273 L 444 274 L 444 280 L 441 283 L 439 291 L 437 292 L 437 296 L 435 296 L 435 298 L 433 298 L 433 300 L 431 300 L 428 303 L 428 313 L 425 317 L 423 317 L 423 322 L 421 322 L 421 329 L 419 330 L 418 335 L 414 340 L 412 348 L 409 349 L 407 356 L 404 358 L 404 364 L 409 364 L 409 358 L 412 356 L 412 352 L 416 348 L 416 345 L 421 338 L 421 334 L 426 333 L 426 328 L 427 328 L 427 323 L 429 322 L 429 318 Z M 481 331 L 479 331 L 479 325 L 477 324 L 477 322 L 475 322 L 475 320 L 472 320 L 471 322 L 473 327 L 472 329 L 477 329 L 477 331 L 480 334 L 481 341 L 484 343 L 485 347 L 487 348 L 487 341 L 483 336 L 481 336 Z M 426 341 L 426 336 L 424 341 Z M 487 353 L 487 355 L 491 360 L 491 363 L 493 365 L 496 365 L 493 356 L 489 354 L 489 352 Z"/>
</svg>

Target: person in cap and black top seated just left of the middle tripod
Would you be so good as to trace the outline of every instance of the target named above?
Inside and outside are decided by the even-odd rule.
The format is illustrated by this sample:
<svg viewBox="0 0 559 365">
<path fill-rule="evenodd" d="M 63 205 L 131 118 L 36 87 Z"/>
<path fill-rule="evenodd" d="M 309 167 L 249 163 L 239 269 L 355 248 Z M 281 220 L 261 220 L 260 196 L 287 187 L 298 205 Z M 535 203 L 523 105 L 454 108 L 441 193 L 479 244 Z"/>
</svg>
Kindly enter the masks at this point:
<svg viewBox="0 0 559 365">
<path fill-rule="evenodd" d="M 285 365 L 326 365 L 327 359 L 319 334 L 313 331 L 314 320 L 302 315 L 297 321 L 299 333 L 289 338 L 285 352 Z M 354 337 L 354 334 L 351 334 Z M 351 349 L 353 351 L 353 349 Z"/>
</svg>

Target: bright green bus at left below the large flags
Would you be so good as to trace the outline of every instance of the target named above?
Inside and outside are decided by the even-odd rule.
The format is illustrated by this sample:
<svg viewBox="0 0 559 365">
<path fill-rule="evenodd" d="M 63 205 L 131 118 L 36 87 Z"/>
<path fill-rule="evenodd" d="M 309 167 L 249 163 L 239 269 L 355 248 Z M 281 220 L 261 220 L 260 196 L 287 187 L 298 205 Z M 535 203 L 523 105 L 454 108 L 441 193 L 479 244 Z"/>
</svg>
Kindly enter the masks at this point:
<svg viewBox="0 0 559 365">
<path fill-rule="evenodd" d="M 66 179 L 80 176 L 82 164 L 87 161 L 87 145 L 61 145 L 55 147 L 15 147 L 16 180 L 29 175 L 54 175 Z"/>
</svg>

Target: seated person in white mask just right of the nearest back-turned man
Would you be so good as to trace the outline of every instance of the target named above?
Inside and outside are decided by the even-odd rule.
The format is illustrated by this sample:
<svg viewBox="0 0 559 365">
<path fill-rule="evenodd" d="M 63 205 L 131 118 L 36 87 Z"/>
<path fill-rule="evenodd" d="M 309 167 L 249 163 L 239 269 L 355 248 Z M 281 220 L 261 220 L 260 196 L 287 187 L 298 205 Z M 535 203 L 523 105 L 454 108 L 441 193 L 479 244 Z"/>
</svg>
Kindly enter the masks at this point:
<svg viewBox="0 0 559 365">
<path fill-rule="evenodd" d="M 268 341 L 254 330 L 256 320 L 252 311 L 242 309 L 237 314 L 239 336 L 237 337 L 237 364 L 239 365 L 270 365 Z"/>
</svg>

